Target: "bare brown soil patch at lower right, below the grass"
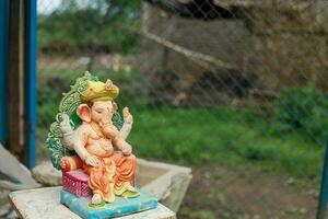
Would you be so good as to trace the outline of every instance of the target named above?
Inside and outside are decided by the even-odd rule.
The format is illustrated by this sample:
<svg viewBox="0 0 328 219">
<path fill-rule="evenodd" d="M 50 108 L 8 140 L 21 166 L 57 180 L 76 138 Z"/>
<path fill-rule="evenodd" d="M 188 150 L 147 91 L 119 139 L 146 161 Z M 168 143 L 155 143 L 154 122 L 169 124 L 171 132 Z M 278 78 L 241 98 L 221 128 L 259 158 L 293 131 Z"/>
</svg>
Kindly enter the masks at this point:
<svg viewBox="0 0 328 219">
<path fill-rule="evenodd" d="M 318 189 L 303 180 L 218 165 L 192 175 L 178 218 L 315 218 Z"/>
</svg>

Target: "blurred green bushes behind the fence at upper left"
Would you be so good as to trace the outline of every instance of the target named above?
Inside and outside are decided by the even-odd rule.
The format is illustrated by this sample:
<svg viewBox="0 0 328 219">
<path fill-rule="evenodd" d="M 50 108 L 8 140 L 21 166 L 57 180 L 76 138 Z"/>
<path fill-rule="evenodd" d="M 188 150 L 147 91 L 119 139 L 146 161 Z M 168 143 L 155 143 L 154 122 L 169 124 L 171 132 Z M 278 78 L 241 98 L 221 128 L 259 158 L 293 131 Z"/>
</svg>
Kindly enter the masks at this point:
<svg viewBox="0 0 328 219">
<path fill-rule="evenodd" d="M 138 37 L 122 26 L 138 28 L 140 1 L 115 1 L 109 14 L 107 8 L 104 0 L 66 0 L 52 13 L 38 14 L 38 48 L 59 54 L 133 51 Z"/>
</svg>

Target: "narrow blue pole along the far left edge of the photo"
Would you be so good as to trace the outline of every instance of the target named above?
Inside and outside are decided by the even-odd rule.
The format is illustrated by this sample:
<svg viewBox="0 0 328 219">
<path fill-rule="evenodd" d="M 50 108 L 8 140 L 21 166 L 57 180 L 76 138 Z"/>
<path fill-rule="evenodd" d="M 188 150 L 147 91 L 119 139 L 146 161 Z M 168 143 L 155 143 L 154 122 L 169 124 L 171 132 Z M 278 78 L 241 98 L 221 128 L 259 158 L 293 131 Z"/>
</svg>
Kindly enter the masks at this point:
<svg viewBox="0 0 328 219">
<path fill-rule="evenodd" d="M 0 0 L 0 105 L 7 105 L 7 59 L 8 59 L 8 34 L 9 34 L 9 1 Z M 7 141 L 7 107 L 0 107 L 0 142 Z"/>
</svg>

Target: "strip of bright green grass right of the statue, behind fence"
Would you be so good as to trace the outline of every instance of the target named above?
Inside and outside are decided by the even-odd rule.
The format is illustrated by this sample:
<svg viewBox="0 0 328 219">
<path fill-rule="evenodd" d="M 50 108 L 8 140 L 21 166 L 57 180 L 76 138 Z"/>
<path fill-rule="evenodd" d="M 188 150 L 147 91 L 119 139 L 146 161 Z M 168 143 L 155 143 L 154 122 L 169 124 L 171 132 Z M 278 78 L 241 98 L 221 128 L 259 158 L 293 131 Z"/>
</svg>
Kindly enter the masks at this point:
<svg viewBox="0 0 328 219">
<path fill-rule="evenodd" d="M 229 107 L 162 106 L 134 112 L 129 141 L 140 157 L 180 164 L 255 164 L 294 176 L 320 175 L 323 147 L 301 132 L 270 135 L 266 126 L 268 120 Z"/>
</svg>

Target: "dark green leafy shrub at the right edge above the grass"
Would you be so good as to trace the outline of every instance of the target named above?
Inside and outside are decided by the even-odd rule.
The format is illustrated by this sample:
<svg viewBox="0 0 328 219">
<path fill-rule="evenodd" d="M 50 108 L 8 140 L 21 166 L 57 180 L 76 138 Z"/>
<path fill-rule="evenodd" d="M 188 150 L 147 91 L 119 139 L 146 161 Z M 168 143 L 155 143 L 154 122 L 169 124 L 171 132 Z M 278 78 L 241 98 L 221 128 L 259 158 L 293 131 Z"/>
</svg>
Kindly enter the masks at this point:
<svg viewBox="0 0 328 219">
<path fill-rule="evenodd" d="M 298 129 L 318 143 L 325 141 L 328 130 L 328 94 L 309 83 L 303 88 L 289 88 L 274 103 L 274 117 L 279 132 Z"/>
</svg>

